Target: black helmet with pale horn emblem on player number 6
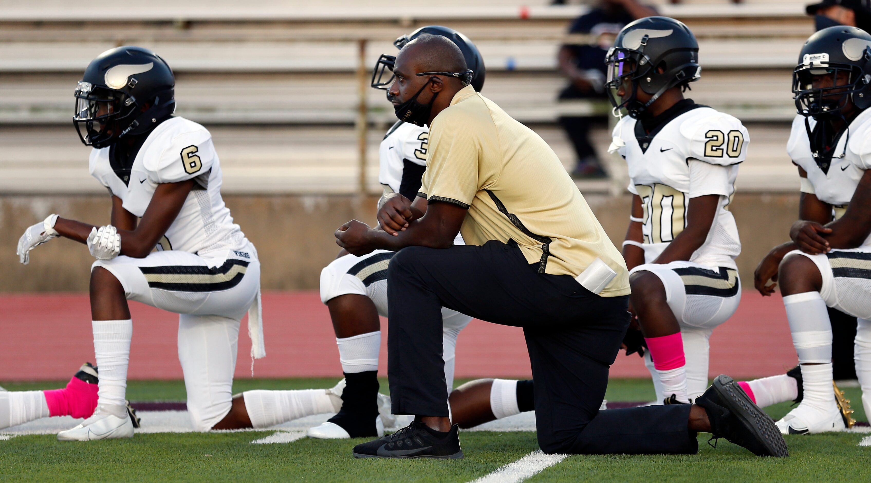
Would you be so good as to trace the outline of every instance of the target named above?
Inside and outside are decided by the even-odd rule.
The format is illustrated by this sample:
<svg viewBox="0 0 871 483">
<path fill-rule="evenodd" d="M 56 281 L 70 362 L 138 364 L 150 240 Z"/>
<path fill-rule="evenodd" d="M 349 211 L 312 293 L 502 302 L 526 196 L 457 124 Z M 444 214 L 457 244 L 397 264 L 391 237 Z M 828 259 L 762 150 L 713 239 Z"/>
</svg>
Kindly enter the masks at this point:
<svg viewBox="0 0 871 483">
<path fill-rule="evenodd" d="M 76 86 L 72 124 L 85 146 L 110 146 L 171 115 L 174 88 L 172 69 L 154 52 L 132 45 L 105 51 Z"/>
</svg>

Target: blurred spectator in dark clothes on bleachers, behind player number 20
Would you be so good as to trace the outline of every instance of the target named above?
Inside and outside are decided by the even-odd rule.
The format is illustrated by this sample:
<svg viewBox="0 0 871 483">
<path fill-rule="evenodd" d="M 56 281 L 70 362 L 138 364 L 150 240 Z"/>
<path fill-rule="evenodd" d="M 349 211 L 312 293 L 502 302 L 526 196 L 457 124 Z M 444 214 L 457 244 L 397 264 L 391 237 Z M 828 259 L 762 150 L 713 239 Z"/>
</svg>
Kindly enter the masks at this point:
<svg viewBox="0 0 871 483">
<path fill-rule="evenodd" d="M 569 28 L 569 43 L 559 49 L 559 69 L 570 81 L 559 99 L 605 99 L 605 54 L 625 24 L 652 15 L 657 15 L 656 10 L 636 0 L 598 0 L 589 12 L 578 17 Z M 579 117 L 559 119 L 575 147 L 577 165 L 571 174 L 576 178 L 607 176 L 590 143 L 590 121 Z"/>
</svg>

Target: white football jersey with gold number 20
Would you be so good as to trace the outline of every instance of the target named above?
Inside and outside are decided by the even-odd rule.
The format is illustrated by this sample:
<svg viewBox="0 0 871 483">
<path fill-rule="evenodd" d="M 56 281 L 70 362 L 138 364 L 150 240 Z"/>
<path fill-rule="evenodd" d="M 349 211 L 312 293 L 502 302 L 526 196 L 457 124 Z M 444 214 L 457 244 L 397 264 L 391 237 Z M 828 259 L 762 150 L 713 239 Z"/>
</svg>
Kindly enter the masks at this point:
<svg viewBox="0 0 871 483">
<path fill-rule="evenodd" d="M 629 166 L 629 191 L 638 194 L 644 206 L 645 262 L 653 262 L 684 230 L 691 198 L 719 194 L 711 231 L 689 262 L 736 269 L 734 258 L 741 243 L 728 205 L 750 142 L 741 122 L 695 105 L 650 134 L 636 119 L 625 117 L 613 135 L 616 146 L 624 145 L 618 151 Z"/>
</svg>

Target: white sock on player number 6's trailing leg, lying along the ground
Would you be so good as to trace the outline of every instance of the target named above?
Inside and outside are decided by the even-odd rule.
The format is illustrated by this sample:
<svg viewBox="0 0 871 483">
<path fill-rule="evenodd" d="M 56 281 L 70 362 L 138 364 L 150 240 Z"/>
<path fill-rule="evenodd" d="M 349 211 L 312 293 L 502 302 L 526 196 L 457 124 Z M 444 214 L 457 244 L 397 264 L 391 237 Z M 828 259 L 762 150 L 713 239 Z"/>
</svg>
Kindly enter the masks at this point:
<svg viewBox="0 0 871 483">
<path fill-rule="evenodd" d="M 245 399 L 248 418 L 251 418 L 251 424 L 255 428 L 267 428 L 314 414 L 338 412 L 341 409 L 341 399 L 331 398 L 324 389 L 245 391 L 242 398 Z"/>
</svg>

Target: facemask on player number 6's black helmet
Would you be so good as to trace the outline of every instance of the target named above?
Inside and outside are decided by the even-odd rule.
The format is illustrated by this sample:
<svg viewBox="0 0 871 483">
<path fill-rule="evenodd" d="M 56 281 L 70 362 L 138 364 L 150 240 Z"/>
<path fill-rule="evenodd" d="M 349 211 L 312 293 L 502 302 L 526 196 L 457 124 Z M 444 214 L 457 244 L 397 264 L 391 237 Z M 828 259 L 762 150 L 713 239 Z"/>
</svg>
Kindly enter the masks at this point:
<svg viewBox="0 0 871 483">
<path fill-rule="evenodd" d="M 85 146 L 103 148 L 118 137 L 120 120 L 135 109 L 135 102 L 124 92 L 79 82 L 76 86 L 76 112 L 72 123 Z"/>
</svg>

